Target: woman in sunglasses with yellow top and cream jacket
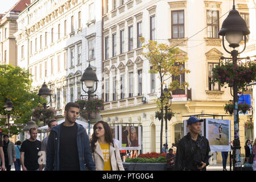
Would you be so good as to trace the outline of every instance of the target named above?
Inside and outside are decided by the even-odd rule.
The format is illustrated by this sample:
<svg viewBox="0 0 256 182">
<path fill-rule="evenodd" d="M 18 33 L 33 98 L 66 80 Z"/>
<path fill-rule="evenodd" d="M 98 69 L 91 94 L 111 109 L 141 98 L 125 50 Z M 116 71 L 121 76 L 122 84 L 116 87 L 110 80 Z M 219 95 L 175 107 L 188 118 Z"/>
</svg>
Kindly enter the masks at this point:
<svg viewBox="0 0 256 182">
<path fill-rule="evenodd" d="M 113 142 L 112 131 L 108 123 L 98 121 L 93 126 L 90 141 L 96 171 L 124 171 L 117 144 Z"/>
</svg>

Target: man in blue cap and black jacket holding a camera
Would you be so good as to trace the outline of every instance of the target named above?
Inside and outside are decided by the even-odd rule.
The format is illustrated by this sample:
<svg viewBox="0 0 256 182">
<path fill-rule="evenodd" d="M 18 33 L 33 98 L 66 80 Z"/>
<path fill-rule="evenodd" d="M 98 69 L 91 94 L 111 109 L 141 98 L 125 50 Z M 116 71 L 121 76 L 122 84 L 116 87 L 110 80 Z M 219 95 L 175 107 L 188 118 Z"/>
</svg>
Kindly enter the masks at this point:
<svg viewBox="0 0 256 182">
<path fill-rule="evenodd" d="M 177 144 L 175 170 L 205 171 L 209 165 L 210 146 L 207 138 L 200 135 L 203 119 L 190 117 L 187 121 L 189 133 Z"/>
</svg>

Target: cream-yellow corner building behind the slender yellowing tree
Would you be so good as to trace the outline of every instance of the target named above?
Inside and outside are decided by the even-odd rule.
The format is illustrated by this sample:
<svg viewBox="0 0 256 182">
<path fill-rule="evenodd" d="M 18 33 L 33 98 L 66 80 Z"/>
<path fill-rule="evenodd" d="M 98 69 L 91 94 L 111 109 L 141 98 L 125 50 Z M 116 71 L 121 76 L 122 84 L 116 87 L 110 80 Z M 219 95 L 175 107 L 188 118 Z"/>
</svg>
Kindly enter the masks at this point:
<svg viewBox="0 0 256 182">
<path fill-rule="evenodd" d="M 246 20 L 248 3 L 236 1 L 238 11 Z M 225 115 L 224 105 L 232 100 L 228 86 L 209 83 L 214 64 L 218 64 L 221 56 L 230 56 L 222 47 L 218 31 L 232 5 L 231 0 L 104 1 L 105 110 L 101 115 L 109 123 L 142 126 L 143 153 L 160 151 L 160 121 L 155 119 L 155 98 L 160 95 L 160 83 L 158 75 L 148 73 L 150 63 L 142 56 L 142 51 L 146 50 L 141 48 L 138 38 L 143 36 L 146 40 L 178 46 L 188 57 L 185 68 L 191 73 L 176 79 L 187 81 L 189 87 L 173 92 L 171 109 L 175 117 L 168 121 L 168 145 L 171 146 L 184 135 L 183 120 L 188 118 L 185 115 Z M 142 102 L 143 97 L 146 102 Z M 233 117 L 224 119 L 232 120 L 233 140 Z M 240 116 L 242 154 L 245 143 L 243 122 L 247 119 Z"/>
</svg>

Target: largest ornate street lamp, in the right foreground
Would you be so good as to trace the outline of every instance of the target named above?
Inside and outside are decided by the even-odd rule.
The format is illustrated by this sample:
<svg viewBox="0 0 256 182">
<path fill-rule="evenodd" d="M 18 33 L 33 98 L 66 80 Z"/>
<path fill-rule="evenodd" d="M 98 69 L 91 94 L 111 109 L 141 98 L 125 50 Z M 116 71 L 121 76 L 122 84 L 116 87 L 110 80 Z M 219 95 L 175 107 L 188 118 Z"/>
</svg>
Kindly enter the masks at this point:
<svg viewBox="0 0 256 182">
<path fill-rule="evenodd" d="M 237 56 L 242 53 L 246 47 L 246 35 L 250 34 L 249 29 L 246 26 L 246 22 L 240 16 L 239 12 L 235 9 L 233 1 L 233 9 L 229 12 L 228 17 L 223 21 L 221 30 L 218 32 L 218 35 L 222 36 L 222 45 L 226 52 L 232 55 L 233 64 L 237 65 Z M 229 52 L 225 48 L 224 37 L 229 43 L 229 47 L 232 47 L 233 50 Z M 239 43 L 242 41 L 245 42 L 245 46 L 241 52 L 235 49 L 239 47 Z M 224 57 L 225 59 L 230 59 Z M 240 58 L 241 59 L 241 58 Z M 233 169 L 241 170 L 241 146 L 239 139 L 239 115 L 238 115 L 238 81 L 234 80 L 233 82 L 233 101 L 234 101 L 234 140 L 233 140 Z"/>
</svg>

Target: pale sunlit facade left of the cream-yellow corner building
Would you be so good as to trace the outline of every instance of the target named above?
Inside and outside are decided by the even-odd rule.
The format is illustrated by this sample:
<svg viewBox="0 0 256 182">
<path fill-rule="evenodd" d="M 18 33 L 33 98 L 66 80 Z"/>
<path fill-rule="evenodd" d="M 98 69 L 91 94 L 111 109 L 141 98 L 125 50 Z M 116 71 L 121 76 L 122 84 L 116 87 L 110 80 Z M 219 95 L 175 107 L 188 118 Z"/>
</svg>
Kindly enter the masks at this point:
<svg viewBox="0 0 256 182">
<path fill-rule="evenodd" d="M 80 79 L 89 63 L 101 78 L 101 11 L 96 9 L 101 10 L 100 1 L 38 0 L 17 20 L 18 65 L 32 74 L 35 92 L 46 82 L 56 115 L 81 98 Z M 101 83 L 96 94 L 101 96 Z"/>
</svg>

